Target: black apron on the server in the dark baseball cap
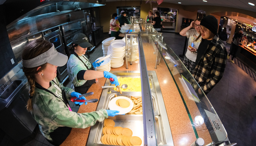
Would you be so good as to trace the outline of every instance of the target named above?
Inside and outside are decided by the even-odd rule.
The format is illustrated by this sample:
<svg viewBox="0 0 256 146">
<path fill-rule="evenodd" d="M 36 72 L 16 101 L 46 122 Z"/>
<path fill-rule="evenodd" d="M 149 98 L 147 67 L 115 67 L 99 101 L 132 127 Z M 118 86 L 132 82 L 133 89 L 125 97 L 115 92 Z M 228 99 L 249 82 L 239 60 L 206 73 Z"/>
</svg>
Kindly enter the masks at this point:
<svg viewBox="0 0 256 146">
<path fill-rule="evenodd" d="M 83 62 L 80 58 L 79 58 L 79 56 L 74 52 L 73 53 L 81 62 Z M 84 56 L 83 56 L 84 57 Z M 84 59 L 86 59 L 85 57 L 84 57 Z M 87 60 L 87 59 L 86 59 Z M 89 61 L 89 60 L 88 60 Z M 84 62 L 83 62 L 84 63 Z M 84 63 L 84 66 L 86 67 L 86 69 L 87 70 L 94 70 L 94 68 L 88 68 L 88 66 Z M 78 86 L 78 87 L 76 87 L 76 86 L 74 86 L 75 87 L 75 91 L 76 92 L 78 92 L 78 93 L 81 93 L 81 94 L 85 94 L 88 90 L 89 90 L 89 88 L 92 86 L 92 84 L 94 84 L 94 83 L 96 83 L 95 82 L 96 80 L 95 79 L 93 79 L 93 80 L 87 80 L 83 85 L 81 85 L 81 86 Z"/>
</svg>

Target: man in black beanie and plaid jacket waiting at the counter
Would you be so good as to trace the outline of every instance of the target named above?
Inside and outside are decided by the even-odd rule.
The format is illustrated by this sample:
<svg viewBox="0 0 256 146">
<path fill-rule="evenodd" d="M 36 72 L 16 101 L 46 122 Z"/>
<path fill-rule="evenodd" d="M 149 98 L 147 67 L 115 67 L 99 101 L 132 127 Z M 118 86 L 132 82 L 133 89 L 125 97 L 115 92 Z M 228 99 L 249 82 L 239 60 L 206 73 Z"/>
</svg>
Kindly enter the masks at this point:
<svg viewBox="0 0 256 146">
<path fill-rule="evenodd" d="M 217 33 L 218 21 L 214 16 L 204 17 L 200 26 L 202 41 L 197 49 L 196 67 L 192 76 L 207 94 L 222 78 L 228 52 Z"/>
</svg>

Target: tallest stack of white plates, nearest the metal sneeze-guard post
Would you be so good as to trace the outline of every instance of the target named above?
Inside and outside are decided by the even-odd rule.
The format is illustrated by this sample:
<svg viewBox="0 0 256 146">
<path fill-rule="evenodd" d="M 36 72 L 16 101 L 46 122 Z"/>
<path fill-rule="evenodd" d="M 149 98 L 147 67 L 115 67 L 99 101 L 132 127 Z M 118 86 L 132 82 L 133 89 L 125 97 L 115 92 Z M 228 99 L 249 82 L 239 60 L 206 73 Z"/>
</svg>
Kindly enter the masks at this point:
<svg viewBox="0 0 256 146">
<path fill-rule="evenodd" d="M 125 42 L 123 40 L 114 40 L 108 46 L 108 55 L 110 54 L 111 67 L 119 68 L 124 65 Z"/>
</svg>

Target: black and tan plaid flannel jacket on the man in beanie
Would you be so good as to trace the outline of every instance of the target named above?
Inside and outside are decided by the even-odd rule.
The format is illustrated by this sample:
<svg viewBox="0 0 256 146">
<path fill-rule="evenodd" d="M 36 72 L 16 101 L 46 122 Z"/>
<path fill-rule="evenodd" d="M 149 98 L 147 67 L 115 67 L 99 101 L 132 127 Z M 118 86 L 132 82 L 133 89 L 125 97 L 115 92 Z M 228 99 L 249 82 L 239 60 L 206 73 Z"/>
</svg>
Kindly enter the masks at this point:
<svg viewBox="0 0 256 146">
<path fill-rule="evenodd" d="M 205 94 L 210 92 L 222 78 L 227 54 L 226 47 L 221 42 L 219 35 L 216 34 L 197 63 L 192 75 Z"/>
</svg>

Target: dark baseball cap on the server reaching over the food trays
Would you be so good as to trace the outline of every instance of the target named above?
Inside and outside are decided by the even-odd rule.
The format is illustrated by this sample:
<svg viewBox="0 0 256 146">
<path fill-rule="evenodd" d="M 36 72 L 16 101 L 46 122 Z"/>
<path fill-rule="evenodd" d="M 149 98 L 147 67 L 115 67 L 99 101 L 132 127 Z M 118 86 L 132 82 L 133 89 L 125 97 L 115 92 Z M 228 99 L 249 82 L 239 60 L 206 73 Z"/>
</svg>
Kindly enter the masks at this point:
<svg viewBox="0 0 256 146">
<path fill-rule="evenodd" d="M 78 44 L 82 48 L 87 48 L 92 46 L 92 44 L 89 43 L 89 40 L 84 33 L 77 33 L 73 37 L 73 44 Z"/>
</svg>

